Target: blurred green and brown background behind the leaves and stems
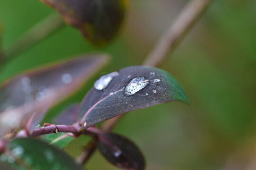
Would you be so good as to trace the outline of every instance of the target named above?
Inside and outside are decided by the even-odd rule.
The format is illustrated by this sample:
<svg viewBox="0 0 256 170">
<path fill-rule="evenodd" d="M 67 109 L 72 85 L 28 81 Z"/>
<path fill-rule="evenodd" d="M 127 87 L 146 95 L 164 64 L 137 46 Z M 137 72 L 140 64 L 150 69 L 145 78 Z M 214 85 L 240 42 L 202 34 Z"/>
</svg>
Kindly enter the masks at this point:
<svg viewBox="0 0 256 170">
<path fill-rule="evenodd" d="M 173 22 L 187 0 L 130 0 L 119 36 L 96 48 L 80 32 L 64 26 L 10 61 L 0 82 L 84 51 L 105 51 L 109 65 L 79 93 L 52 108 L 44 122 L 64 107 L 80 102 L 98 76 L 139 65 Z M 0 0 L 2 48 L 55 11 L 38 0 Z M 256 169 L 256 0 L 213 0 L 161 68 L 185 88 L 191 106 L 171 102 L 127 113 L 115 132 L 135 141 L 145 154 L 147 170 Z M 66 151 L 77 156 L 89 137 L 73 141 Z M 99 152 L 88 170 L 115 170 Z"/>
</svg>

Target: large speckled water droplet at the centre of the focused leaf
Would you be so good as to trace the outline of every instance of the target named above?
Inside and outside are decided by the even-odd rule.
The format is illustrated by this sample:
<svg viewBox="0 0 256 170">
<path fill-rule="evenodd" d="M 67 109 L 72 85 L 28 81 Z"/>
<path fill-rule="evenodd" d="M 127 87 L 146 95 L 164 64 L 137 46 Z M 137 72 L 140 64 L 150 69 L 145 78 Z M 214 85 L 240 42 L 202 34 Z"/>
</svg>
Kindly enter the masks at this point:
<svg viewBox="0 0 256 170">
<path fill-rule="evenodd" d="M 137 76 L 131 79 L 125 86 L 124 95 L 129 96 L 137 93 L 141 89 L 145 88 L 149 84 L 149 80 L 144 76 Z"/>
</svg>

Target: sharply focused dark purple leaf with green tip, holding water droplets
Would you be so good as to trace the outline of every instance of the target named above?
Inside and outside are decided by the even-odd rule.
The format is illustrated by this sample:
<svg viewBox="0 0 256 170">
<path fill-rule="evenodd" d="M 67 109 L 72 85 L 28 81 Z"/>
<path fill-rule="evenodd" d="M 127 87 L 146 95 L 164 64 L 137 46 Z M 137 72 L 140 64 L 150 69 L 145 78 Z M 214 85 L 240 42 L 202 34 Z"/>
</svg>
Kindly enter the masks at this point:
<svg viewBox="0 0 256 170">
<path fill-rule="evenodd" d="M 128 111 L 164 102 L 180 101 L 189 103 L 179 82 L 169 73 L 159 68 L 134 66 L 119 70 L 118 76 L 113 73 L 105 75 L 104 79 L 101 76 L 94 84 L 97 89 L 101 89 L 99 88 L 101 84 L 105 87 L 106 82 L 111 79 L 110 76 L 115 75 L 106 88 L 103 90 L 92 88 L 84 97 L 79 115 L 82 119 L 81 124 L 85 128 Z M 124 89 L 135 77 L 141 81 L 133 86 L 130 84 Z M 125 92 L 125 90 L 127 91 Z M 135 93 L 137 90 L 138 92 Z"/>
</svg>

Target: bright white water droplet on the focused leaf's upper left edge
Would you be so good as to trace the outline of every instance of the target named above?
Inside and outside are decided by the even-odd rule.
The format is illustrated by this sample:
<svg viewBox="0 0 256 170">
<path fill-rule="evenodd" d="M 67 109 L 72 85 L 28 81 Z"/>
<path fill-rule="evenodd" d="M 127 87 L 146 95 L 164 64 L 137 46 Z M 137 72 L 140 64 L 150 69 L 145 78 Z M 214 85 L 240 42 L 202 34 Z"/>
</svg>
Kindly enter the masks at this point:
<svg viewBox="0 0 256 170">
<path fill-rule="evenodd" d="M 119 73 L 117 71 L 115 71 L 115 72 L 101 76 L 98 80 L 95 81 L 94 88 L 96 90 L 103 90 L 110 84 L 110 82 L 113 80 L 113 78 L 118 75 L 119 75 Z"/>
</svg>

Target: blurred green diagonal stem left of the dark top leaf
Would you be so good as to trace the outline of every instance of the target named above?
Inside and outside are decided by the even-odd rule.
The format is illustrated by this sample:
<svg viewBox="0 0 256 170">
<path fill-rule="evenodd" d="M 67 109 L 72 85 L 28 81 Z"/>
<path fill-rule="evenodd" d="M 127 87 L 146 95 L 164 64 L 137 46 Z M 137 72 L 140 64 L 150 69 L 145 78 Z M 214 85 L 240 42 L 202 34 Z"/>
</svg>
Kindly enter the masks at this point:
<svg viewBox="0 0 256 170">
<path fill-rule="evenodd" d="M 64 20 L 58 13 L 49 15 L 30 28 L 16 42 L 9 46 L 9 48 L 3 51 L 2 60 L 6 62 L 7 60 L 15 57 L 20 52 L 27 50 L 29 47 L 43 40 L 62 26 L 64 26 Z"/>
</svg>

